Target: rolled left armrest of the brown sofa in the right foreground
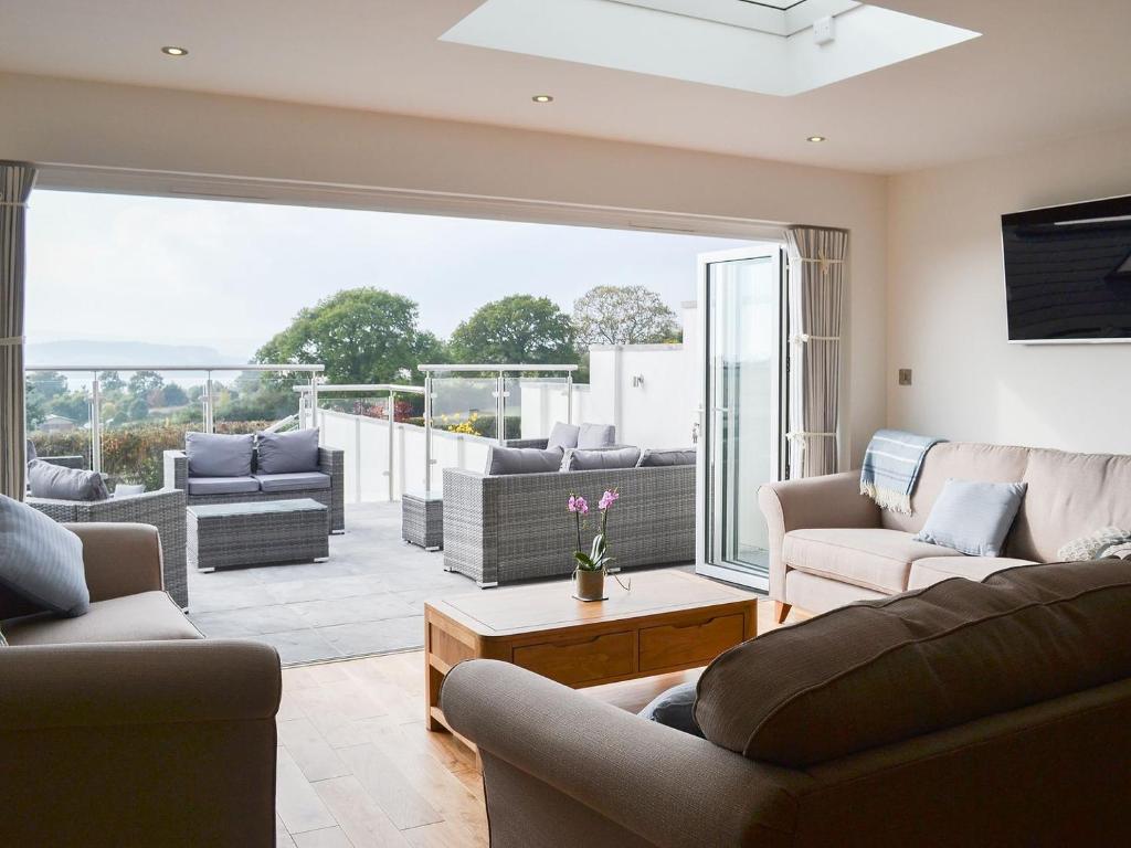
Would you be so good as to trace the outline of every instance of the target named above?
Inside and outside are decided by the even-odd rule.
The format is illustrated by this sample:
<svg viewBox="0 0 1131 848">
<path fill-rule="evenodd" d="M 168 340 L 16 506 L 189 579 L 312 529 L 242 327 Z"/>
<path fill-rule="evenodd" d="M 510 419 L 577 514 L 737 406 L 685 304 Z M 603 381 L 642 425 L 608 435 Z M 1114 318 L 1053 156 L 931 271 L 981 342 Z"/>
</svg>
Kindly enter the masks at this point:
<svg viewBox="0 0 1131 848">
<path fill-rule="evenodd" d="M 469 660 L 440 703 L 484 759 L 491 815 L 527 803 L 500 796 L 492 758 L 663 848 L 791 845 L 806 778 L 646 721 L 518 666 Z"/>
</svg>

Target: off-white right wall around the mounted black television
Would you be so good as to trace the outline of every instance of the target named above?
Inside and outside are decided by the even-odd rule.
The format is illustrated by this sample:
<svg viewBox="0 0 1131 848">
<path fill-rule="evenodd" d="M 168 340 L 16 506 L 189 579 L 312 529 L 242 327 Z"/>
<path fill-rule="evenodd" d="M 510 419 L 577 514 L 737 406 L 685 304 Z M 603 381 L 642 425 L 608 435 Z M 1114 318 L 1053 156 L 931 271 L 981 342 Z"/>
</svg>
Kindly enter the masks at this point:
<svg viewBox="0 0 1131 848">
<path fill-rule="evenodd" d="M 1131 193 L 1131 131 L 892 178 L 889 424 L 1131 452 L 1131 345 L 1007 344 L 1003 213 Z M 914 384 L 896 370 L 914 369 Z"/>
</svg>

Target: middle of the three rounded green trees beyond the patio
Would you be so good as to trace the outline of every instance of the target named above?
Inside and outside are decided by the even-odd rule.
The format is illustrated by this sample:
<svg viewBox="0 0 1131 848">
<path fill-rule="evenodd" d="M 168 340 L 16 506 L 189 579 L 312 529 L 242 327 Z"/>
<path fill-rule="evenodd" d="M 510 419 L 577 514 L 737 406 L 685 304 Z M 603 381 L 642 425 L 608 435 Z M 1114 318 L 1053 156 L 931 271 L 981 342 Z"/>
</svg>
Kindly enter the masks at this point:
<svg viewBox="0 0 1131 848">
<path fill-rule="evenodd" d="M 516 294 L 480 306 L 451 334 L 451 354 L 464 363 L 571 364 L 573 325 L 549 297 Z"/>
</svg>

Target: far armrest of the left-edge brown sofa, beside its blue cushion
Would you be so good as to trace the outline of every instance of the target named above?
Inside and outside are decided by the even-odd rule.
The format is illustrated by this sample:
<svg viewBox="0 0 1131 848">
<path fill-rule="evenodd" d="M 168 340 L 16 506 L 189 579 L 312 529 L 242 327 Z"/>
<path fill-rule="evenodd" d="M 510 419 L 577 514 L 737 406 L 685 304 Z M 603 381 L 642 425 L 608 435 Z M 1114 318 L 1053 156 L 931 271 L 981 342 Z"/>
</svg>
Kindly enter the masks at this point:
<svg viewBox="0 0 1131 848">
<path fill-rule="evenodd" d="M 90 600 L 164 588 L 161 536 L 153 525 L 68 523 L 83 540 Z"/>
</svg>

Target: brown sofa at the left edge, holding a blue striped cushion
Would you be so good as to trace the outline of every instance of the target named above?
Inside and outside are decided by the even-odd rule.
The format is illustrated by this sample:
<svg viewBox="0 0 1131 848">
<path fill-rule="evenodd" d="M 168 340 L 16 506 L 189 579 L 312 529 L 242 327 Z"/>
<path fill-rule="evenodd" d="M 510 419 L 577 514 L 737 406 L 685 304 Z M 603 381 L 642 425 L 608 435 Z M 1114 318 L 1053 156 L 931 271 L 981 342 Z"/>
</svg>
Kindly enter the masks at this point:
<svg viewBox="0 0 1131 848">
<path fill-rule="evenodd" d="M 0 842 L 274 846 L 278 655 L 201 637 L 154 527 L 67 526 L 86 615 L 0 589 Z"/>
</svg>

